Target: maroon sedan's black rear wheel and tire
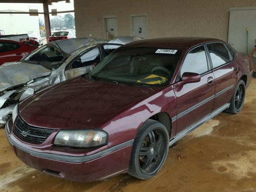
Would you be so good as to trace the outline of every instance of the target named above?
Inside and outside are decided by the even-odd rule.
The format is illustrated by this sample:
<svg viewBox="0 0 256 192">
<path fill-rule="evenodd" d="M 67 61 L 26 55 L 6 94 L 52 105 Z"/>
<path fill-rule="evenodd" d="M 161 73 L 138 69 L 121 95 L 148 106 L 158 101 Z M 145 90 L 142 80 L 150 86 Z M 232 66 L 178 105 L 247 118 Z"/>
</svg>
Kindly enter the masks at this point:
<svg viewBox="0 0 256 192">
<path fill-rule="evenodd" d="M 244 98 L 245 98 L 245 84 L 243 80 L 239 80 L 238 84 L 236 85 L 235 92 L 230 101 L 230 106 L 225 110 L 225 112 L 231 113 L 231 114 L 239 113 L 243 108 Z"/>
</svg>

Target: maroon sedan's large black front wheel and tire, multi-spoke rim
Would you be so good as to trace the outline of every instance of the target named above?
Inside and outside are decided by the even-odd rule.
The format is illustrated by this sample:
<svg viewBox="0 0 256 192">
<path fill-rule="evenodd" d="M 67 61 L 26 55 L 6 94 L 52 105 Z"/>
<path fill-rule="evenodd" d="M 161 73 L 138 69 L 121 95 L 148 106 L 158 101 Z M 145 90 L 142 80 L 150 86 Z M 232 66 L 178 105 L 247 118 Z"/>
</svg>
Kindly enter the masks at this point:
<svg viewBox="0 0 256 192">
<path fill-rule="evenodd" d="M 146 120 L 134 140 L 128 174 L 142 180 L 155 176 L 164 165 L 168 149 L 167 128 L 158 121 Z"/>
</svg>

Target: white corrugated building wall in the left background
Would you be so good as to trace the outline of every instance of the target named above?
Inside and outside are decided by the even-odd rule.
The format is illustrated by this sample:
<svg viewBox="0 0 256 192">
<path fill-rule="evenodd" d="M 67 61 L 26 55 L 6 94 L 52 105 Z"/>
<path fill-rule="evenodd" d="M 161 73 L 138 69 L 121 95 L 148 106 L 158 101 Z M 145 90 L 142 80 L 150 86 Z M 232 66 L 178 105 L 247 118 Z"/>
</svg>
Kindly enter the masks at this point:
<svg viewBox="0 0 256 192">
<path fill-rule="evenodd" d="M 4 30 L 6 35 L 28 32 L 39 33 L 38 16 L 29 16 L 29 14 L 1 14 L 0 30 Z"/>
</svg>

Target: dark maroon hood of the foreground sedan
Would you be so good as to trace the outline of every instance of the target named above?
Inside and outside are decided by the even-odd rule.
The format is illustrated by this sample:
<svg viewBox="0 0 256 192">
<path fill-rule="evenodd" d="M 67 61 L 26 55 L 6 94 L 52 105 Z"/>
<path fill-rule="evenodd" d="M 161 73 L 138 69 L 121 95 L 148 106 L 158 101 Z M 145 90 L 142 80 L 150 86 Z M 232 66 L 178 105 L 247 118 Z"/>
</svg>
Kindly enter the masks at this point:
<svg viewBox="0 0 256 192">
<path fill-rule="evenodd" d="M 158 89 L 96 82 L 79 77 L 38 92 L 21 102 L 20 117 L 37 127 L 96 128 Z"/>
</svg>

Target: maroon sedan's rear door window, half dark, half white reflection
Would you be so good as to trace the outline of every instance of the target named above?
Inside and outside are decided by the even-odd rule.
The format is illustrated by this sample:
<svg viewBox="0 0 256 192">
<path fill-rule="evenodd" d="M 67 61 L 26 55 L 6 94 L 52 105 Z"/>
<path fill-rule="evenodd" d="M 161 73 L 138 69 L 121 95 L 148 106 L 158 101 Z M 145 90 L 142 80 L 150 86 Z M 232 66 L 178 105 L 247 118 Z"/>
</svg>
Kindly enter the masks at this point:
<svg viewBox="0 0 256 192">
<path fill-rule="evenodd" d="M 209 43 L 206 44 L 206 46 L 209 50 L 213 68 L 224 65 L 231 61 L 228 50 L 223 43 Z"/>
</svg>

